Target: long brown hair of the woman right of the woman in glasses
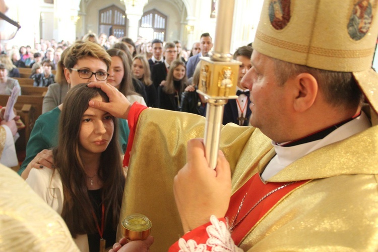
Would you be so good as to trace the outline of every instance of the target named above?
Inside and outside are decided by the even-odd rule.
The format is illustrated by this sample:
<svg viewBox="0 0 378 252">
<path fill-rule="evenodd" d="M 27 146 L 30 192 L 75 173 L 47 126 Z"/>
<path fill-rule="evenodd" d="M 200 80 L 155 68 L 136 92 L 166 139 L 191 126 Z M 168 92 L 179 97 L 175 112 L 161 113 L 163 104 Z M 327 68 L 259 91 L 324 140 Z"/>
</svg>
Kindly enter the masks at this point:
<svg viewBox="0 0 378 252">
<path fill-rule="evenodd" d="M 134 89 L 133 80 L 132 80 L 133 76 L 131 73 L 131 69 L 129 66 L 129 59 L 127 55 L 120 49 L 115 49 L 115 48 L 108 49 L 106 52 L 110 55 L 110 57 L 118 57 L 122 61 L 124 74 L 123 74 L 122 81 L 119 84 L 119 91 L 123 93 L 124 96 L 131 95 L 131 94 L 138 94 L 135 92 L 135 89 Z"/>
</svg>

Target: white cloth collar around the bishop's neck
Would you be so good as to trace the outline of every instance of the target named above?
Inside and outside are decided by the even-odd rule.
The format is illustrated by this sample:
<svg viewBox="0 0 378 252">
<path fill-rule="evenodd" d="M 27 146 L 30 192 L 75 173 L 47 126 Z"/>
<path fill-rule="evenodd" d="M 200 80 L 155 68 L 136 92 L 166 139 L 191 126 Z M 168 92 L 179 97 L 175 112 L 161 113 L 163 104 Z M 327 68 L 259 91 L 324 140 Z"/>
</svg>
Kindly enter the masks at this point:
<svg viewBox="0 0 378 252">
<path fill-rule="evenodd" d="M 306 142 L 290 147 L 280 146 L 284 143 L 278 145 L 277 143 L 272 141 L 273 147 L 277 155 L 274 156 L 273 159 L 269 162 L 263 174 L 261 175 L 261 178 L 264 181 L 267 181 L 268 179 L 276 175 L 278 172 L 283 170 L 286 166 L 304 157 L 310 152 L 313 152 L 314 150 L 324 147 L 328 144 L 344 140 L 354 134 L 357 134 L 369 128 L 370 126 L 371 124 L 369 119 L 366 117 L 365 113 L 361 111 L 361 115 L 359 117 L 343 124 L 323 139 L 312 142 Z"/>
</svg>

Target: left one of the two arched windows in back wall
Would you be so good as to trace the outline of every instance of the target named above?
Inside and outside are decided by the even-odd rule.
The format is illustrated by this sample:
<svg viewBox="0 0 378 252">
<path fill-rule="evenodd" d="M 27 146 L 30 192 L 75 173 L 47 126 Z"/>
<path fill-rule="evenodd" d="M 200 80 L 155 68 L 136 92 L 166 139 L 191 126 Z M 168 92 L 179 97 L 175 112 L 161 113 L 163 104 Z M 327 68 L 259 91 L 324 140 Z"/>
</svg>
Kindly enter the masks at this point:
<svg viewBox="0 0 378 252">
<path fill-rule="evenodd" d="M 116 38 L 126 34 L 126 14 L 125 11 L 115 5 L 99 10 L 98 31 Z"/>
</svg>

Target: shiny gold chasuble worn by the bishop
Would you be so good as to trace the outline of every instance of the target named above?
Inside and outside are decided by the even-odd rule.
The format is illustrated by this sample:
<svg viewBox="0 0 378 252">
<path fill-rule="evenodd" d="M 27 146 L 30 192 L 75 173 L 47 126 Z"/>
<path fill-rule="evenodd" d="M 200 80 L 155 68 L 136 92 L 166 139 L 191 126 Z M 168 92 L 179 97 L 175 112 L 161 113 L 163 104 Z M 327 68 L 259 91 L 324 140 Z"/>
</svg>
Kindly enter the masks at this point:
<svg viewBox="0 0 378 252">
<path fill-rule="evenodd" d="M 139 116 L 120 221 L 133 213 L 146 215 L 154 236 L 151 251 L 167 251 L 183 235 L 173 178 L 186 163 L 186 142 L 203 137 L 204 124 L 201 116 L 152 108 Z M 222 128 L 220 149 L 232 170 L 232 193 L 274 156 L 271 140 L 259 129 L 235 124 Z M 376 174 L 378 126 L 306 155 L 268 182 L 310 181 L 279 200 L 239 246 L 250 251 L 376 249 Z"/>
</svg>

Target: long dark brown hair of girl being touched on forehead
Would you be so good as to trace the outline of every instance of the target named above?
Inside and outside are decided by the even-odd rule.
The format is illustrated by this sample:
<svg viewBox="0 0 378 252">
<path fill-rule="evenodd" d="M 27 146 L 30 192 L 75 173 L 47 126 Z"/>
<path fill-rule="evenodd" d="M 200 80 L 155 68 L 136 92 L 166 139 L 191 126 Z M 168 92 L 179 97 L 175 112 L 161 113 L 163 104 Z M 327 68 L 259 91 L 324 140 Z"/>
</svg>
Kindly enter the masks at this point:
<svg viewBox="0 0 378 252">
<path fill-rule="evenodd" d="M 86 83 L 76 85 L 69 90 L 60 115 L 59 142 L 53 150 L 56 170 L 61 177 L 65 198 L 61 217 L 74 238 L 78 234 L 97 232 L 78 139 L 82 116 L 88 108 L 90 99 L 98 95 L 109 102 L 109 98 L 101 89 L 87 87 Z M 111 213 L 113 216 L 111 222 L 115 229 L 118 224 L 125 177 L 118 144 L 118 124 L 115 118 L 113 121 L 113 137 L 101 154 L 97 175 L 103 181 L 101 197 L 106 210 L 105 223 Z"/>
</svg>

